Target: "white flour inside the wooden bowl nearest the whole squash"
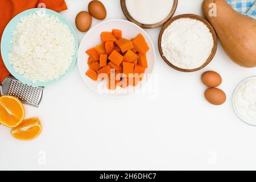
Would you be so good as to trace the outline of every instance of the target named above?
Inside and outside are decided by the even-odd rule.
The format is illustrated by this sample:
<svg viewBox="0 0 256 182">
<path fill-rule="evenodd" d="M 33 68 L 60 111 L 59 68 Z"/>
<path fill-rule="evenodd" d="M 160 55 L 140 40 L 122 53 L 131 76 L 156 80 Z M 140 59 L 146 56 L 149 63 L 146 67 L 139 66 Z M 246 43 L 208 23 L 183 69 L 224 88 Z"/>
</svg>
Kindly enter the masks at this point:
<svg viewBox="0 0 256 182">
<path fill-rule="evenodd" d="M 180 18 L 163 32 L 161 47 L 171 64 L 182 69 L 196 69 L 207 61 L 213 43 L 213 36 L 203 22 Z"/>
</svg>

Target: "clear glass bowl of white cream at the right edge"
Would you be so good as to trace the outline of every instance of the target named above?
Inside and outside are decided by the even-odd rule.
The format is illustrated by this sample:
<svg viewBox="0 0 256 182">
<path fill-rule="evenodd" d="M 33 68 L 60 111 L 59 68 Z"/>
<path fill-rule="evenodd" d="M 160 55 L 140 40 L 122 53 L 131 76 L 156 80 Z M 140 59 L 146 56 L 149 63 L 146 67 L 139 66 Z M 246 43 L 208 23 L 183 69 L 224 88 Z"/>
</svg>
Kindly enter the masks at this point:
<svg viewBox="0 0 256 182">
<path fill-rule="evenodd" d="M 256 76 L 246 78 L 237 86 L 233 106 L 242 121 L 256 126 Z"/>
</svg>

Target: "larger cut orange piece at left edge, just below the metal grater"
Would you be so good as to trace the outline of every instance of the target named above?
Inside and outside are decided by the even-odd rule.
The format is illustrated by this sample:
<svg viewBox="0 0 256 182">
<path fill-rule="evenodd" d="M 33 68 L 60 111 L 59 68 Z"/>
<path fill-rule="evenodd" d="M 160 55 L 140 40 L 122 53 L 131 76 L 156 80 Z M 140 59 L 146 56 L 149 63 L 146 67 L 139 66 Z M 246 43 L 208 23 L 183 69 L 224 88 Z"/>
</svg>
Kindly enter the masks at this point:
<svg viewBox="0 0 256 182">
<path fill-rule="evenodd" d="M 0 97 L 0 123 L 7 127 L 18 126 L 25 117 L 25 109 L 18 98 Z"/>
</svg>

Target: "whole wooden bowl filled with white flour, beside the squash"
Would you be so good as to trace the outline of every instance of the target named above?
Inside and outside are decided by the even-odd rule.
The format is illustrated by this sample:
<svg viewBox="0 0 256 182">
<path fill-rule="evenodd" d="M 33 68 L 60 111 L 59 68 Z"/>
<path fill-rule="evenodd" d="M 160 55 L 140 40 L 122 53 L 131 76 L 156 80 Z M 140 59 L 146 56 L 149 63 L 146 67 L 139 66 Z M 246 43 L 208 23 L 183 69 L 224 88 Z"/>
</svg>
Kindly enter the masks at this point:
<svg viewBox="0 0 256 182">
<path fill-rule="evenodd" d="M 181 20 L 181 19 L 184 20 L 184 22 L 181 22 L 181 21 L 176 22 L 176 20 Z M 202 22 L 206 27 L 195 20 Z M 174 22 L 176 26 L 172 24 Z M 191 28 L 187 27 L 187 30 L 186 29 L 184 30 L 183 28 L 186 26 L 186 22 L 191 25 Z M 201 27 L 195 27 L 196 23 L 199 23 Z M 171 25 L 172 27 L 170 27 Z M 177 27 L 179 27 L 179 25 L 180 25 L 180 30 L 179 29 L 176 30 Z M 167 30 L 168 27 L 170 27 L 169 30 Z M 164 33 L 166 30 L 167 32 Z M 174 31 L 176 31 L 177 33 L 176 34 L 174 33 L 174 35 L 172 36 L 171 34 Z M 185 32 L 185 34 L 183 35 L 181 34 L 181 32 Z M 168 38 L 163 37 L 163 35 L 167 35 Z M 212 39 L 210 38 L 210 35 L 212 35 Z M 188 36 L 188 39 L 186 40 L 185 38 L 187 36 Z M 167 40 L 170 40 L 170 42 L 167 42 Z M 189 40 L 191 40 L 191 44 L 188 43 Z M 197 40 L 201 40 L 201 42 L 196 42 Z M 184 44 L 187 47 L 185 47 L 182 44 Z M 188 47 L 188 45 L 191 47 Z M 195 14 L 178 15 L 178 16 L 175 16 L 174 18 L 171 18 L 170 20 L 168 20 L 168 22 L 164 24 L 159 34 L 158 48 L 159 48 L 159 53 L 162 56 L 163 60 L 170 67 L 181 72 L 195 72 L 195 71 L 199 71 L 200 69 L 203 69 L 210 63 L 210 61 L 212 61 L 217 50 L 217 35 L 212 25 L 201 16 L 195 15 Z M 171 50 L 170 52 L 168 52 L 167 50 L 168 48 Z M 175 52 L 175 50 L 179 50 L 179 51 Z M 189 58 L 189 56 L 194 56 L 194 57 L 191 57 L 191 60 L 189 60 L 187 59 Z M 182 61 L 186 61 L 186 59 L 188 60 L 188 63 L 185 63 L 187 65 L 182 65 L 181 64 Z M 196 64 L 193 65 L 192 60 L 197 61 L 200 59 L 201 59 L 201 62 L 199 63 L 201 63 L 201 65 L 199 65 L 199 63 L 196 63 L 198 64 L 197 66 Z"/>
</svg>

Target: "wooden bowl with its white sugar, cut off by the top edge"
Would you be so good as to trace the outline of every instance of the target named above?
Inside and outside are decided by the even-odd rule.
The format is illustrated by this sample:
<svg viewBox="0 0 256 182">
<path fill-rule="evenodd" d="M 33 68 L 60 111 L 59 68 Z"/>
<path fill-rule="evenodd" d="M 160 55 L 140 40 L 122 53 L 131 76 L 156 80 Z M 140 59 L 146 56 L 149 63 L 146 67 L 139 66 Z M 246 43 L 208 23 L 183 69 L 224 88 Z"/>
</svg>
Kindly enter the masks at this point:
<svg viewBox="0 0 256 182">
<path fill-rule="evenodd" d="M 142 28 L 162 26 L 175 13 L 178 0 L 120 0 L 126 18 Z"/>
</svg>

